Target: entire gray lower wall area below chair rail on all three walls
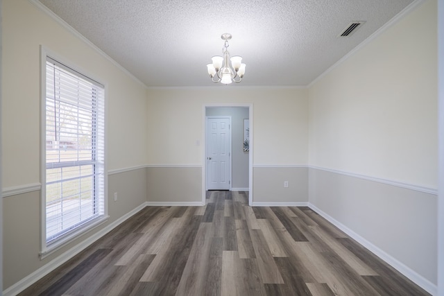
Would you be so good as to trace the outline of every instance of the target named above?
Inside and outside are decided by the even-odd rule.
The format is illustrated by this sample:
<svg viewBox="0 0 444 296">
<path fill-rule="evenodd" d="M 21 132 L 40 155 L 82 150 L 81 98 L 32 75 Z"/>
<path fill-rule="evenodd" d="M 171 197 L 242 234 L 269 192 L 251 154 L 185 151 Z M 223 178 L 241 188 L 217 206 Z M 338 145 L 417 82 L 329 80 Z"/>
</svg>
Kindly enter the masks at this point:
<svg viewBox="0 0 444 296">
<path fill-rule="evenodd" d="M 284 188 L 284 181 L 289 187 Z M 144 202 L 201 202 L 201 167 L 148 167 L 108 176 L 110 220 L 40 260 L 40 191 L 3 198 L 8 288 Z M 114 192 L 118 200 L 114 202 Z M 309 202 L 436 285 L 436 195 L 307 167 L 253 168 L 253 204 Z"/>
</svg>

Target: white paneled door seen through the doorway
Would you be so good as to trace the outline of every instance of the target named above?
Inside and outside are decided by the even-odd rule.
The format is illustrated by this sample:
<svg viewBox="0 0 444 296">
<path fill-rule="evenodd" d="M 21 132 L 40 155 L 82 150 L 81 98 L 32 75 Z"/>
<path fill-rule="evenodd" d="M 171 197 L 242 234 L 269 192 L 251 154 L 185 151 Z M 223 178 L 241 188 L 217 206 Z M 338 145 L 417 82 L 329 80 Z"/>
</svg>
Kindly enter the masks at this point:
<svg viewBox="0 0 444 296">
<path fill-rule="evenodd" d="M 230 190 L 231 117 L 207 117 L 207 190 Z"/>
</svg>

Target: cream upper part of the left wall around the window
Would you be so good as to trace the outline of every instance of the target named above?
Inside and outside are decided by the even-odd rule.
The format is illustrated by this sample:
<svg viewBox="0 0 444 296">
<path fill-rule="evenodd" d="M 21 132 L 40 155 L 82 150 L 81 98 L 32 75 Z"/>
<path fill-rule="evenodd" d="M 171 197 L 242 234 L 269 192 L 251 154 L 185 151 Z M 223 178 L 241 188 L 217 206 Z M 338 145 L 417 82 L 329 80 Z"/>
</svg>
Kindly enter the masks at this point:
<svg viewBox="0 0 444 296">
<path fill-rule="evenodd" d="M 108 169 L 146 164 L 146 88 L 29 1 L 1 17 L 3 187 L 40 182 L 40 45 L 105 84 Z"/>
</svg>

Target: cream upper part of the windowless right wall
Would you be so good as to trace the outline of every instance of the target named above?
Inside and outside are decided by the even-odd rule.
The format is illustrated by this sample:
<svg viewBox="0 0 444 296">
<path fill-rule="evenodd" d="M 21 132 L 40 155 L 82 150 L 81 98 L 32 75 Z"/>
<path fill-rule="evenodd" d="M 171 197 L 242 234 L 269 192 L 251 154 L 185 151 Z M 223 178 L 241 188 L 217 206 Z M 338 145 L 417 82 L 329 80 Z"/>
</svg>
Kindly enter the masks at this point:
<svg viewBox="0 0 444 296">
<path fill-rule="evenodd" d="M 436 1 L 309 89 L 309 164 L 436 188 Z"/>
</svg>

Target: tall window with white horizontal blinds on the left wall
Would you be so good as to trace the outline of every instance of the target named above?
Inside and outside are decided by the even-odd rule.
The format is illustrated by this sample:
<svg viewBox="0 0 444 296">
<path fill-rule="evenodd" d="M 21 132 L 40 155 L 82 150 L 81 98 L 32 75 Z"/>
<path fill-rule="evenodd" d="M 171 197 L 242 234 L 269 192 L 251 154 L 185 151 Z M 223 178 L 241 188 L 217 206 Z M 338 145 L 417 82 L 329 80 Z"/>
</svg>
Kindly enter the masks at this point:
<svg viewBox="0 0 444 296">
<path fill-rule="evenodd" d="M 103 85 L 46 56 L 44 93 L 43 251 L 105 216 Z"/>
</svg>

